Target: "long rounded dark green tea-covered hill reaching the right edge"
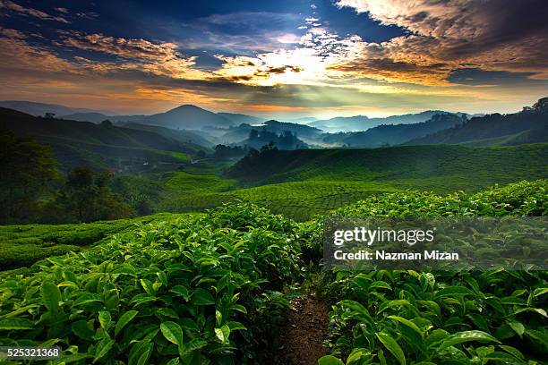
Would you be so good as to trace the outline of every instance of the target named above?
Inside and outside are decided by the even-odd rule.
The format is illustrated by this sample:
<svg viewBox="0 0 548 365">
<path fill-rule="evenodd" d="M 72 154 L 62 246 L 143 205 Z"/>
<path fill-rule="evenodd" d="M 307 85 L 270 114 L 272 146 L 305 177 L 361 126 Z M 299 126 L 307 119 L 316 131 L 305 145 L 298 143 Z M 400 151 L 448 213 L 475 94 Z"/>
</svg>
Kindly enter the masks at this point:
<svg viewBox="0 0 548 365">
<path fill-rule="evenodd" d="M 303 149 L 246 157 L 227 176 L 247 185 L 298 181 L 376 182 L 435 191 L 548 177 L 548 144 L 515 147 L 405 146 Z"/>
</svg>

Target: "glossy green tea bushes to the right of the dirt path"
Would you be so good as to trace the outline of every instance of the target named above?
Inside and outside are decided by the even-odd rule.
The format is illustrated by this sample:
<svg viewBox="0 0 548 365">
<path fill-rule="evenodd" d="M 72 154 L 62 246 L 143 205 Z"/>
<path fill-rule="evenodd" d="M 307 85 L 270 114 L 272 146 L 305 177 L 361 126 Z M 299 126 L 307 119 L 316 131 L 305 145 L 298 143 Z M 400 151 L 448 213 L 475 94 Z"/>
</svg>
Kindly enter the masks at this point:
<svg viewBox="0 0 548 365">
<path fill-rule="evenodd" d="M 338 216 L 545 216 L 548 181 L 440 197 L 372 197 Z M 321 243 L 317 243 L 321 244 Z M 548 355 L 545 271 L 338 271 L 325 278 L 332 355 L 347 364 L 540 363 Z"/>
</svg>

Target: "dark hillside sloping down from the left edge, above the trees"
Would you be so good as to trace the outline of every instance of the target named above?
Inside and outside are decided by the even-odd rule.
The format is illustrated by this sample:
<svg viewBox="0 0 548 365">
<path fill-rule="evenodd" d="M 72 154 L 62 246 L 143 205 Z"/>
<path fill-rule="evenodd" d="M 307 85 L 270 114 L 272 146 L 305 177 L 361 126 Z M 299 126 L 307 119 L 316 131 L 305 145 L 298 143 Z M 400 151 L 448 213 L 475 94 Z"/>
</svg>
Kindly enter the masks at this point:
<svg viewBox="0 0 548 365">
<path fill-rule="evenodd" d="M 193 144 L 155 132 L 63 119 L 46 119 L 0 108 L 0 128 L 18 135 L 33 135 L 53 149 L 62 168 L 128 168 L 144 162 L 181 163 Z"/>
</svg>

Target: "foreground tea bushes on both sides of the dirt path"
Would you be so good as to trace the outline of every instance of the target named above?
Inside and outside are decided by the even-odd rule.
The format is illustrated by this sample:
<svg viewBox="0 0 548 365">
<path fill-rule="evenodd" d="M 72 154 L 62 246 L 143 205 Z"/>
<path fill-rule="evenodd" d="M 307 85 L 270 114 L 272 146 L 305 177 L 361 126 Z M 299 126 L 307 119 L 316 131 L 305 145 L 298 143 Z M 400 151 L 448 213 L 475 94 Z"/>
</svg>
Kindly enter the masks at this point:
<svg viewBox="0 0 548 365">
<path fill-rule="evenodd" d="M 445 196 L 375 191 L 330 214 L 546 216 L 547 187 L 539 180 Z M 545 271 L 321 274 L 314 267 L 322 222 L 231 204 L 114 223 L 113 231 L 99 223 L 94 229 L 106 235 L 91 247 L 4 276 L 0 345 L 59 345 L 63 356 L 52 363 L 264 363 L 292 288 L 315 276 L 317 294 L 332 304 L 322 365 L 548 358 Z M 48 228 L 30 229 L 44 236 Z"/>
</svg>

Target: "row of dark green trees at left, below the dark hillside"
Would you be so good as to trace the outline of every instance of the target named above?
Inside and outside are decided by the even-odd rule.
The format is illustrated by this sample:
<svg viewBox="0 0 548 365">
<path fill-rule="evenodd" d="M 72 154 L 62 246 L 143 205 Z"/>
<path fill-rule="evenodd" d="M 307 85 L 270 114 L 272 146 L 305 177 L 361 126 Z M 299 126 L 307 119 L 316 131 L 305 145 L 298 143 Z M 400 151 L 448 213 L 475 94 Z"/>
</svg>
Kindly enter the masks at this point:
<svg viewBox="0 0 548 365">
<path fill-rule="evenodd" d="M 10 131 L 0 131 L 0 146 L 1 224 L 92 222 L 142 213 L 113 191 L 110 171 L 77 167 L 62 174 L 48 146 Z"/>
</svg>

